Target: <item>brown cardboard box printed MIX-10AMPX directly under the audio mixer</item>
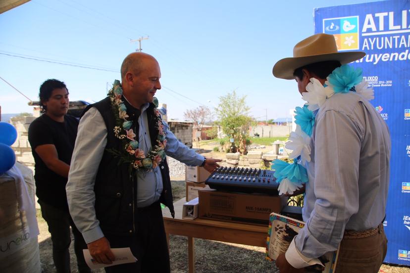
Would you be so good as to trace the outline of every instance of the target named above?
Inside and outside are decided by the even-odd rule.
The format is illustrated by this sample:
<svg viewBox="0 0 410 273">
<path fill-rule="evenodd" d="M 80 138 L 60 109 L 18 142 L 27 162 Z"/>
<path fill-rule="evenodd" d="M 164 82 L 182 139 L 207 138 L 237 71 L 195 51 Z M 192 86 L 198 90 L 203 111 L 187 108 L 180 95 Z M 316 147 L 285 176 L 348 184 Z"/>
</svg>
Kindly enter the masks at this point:
<svg viewBox="0 0 410 273">
<path fill-rule="evenodd" d="M 288 197 L 259 193 L 200 190 L 199 218 L 268 225 L 272 212 L 280 213 Z"/>
</svg>

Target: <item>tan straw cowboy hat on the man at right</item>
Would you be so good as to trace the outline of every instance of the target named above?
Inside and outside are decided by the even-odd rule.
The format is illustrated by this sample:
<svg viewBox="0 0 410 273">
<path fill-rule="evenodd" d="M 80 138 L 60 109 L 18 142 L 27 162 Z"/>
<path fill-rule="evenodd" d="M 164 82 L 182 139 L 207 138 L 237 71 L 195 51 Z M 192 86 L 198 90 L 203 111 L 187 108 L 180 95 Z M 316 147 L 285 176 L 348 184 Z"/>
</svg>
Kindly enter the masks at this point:
<svg viewBox="0 0 410 273">
<path fill-rule="evenodd" d="M 296 44 L 293 48 L 293 58 L 279 60 L 273 66 L 273 76 L 293 80 L 293 72 L 302 66 L 322 61 L 340 61 L 350 63 L 364 57 L 362 51 L 338 52 L 333 35 L 315 34 Z"/>
</svg>

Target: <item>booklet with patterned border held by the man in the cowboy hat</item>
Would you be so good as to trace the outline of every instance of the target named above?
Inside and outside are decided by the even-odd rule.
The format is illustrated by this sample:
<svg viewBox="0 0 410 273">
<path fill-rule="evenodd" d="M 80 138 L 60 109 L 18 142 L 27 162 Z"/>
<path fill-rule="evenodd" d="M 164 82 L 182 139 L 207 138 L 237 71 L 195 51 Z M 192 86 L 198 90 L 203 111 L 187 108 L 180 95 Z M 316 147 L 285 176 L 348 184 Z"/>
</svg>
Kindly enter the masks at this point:
<svg viewBox="0 0 410 273">
<path fill-rule="evenodd" d="M 271 213 L 269 217 L 269 230 L 266 239 L 266 259 L 275 261 L 276 258 L 286 252 L 293 238 L 299 233 L 305 223 L 277 213 Z M 309 273 L 335 273 L 338 251 L 329 252 L 318 258 L 318 263 L 308 268 Z"/>
</svg>

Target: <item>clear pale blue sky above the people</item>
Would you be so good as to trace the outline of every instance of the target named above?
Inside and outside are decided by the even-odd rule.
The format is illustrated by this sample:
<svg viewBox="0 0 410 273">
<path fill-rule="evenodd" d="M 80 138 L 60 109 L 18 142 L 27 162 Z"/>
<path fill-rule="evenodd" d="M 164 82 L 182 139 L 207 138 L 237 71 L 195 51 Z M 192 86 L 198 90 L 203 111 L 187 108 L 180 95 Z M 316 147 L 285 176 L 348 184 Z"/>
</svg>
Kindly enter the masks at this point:
<svg viewBox="0 0 410 273">
<path fill-rule="evenodd" d="M 141 47 L 159 62 L 156 97 L 168 119 L 213 110 L 232 91 L 256 120 L 290 117 L 304 101 L 295 81 L 273 77 L 273 65 L 314 34 L 314 8 L 363 2 L 31 0 L 0 14 L 0 77 L 31 100 L 54 78 L 70 100 L 99 101 L 139 48 L 132 40 L 148 37 Z M 1 113 L 32 113 L 28 102 L 0 79 Z"/>
</svg>

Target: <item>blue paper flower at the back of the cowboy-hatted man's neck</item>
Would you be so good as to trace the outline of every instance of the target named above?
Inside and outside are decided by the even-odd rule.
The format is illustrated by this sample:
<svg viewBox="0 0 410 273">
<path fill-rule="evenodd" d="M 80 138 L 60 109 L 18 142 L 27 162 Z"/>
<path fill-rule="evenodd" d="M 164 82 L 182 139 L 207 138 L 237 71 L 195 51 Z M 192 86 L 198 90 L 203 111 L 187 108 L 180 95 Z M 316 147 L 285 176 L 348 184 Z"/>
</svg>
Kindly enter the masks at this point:
<svg viewBox="0 0 410 273">
<path fill-rule="evenodd" d="M 333 70 L 327 77 L 329 85 L 333 87 L 335 93 L 347 93 L 362 80 L 361 68 L 353 68 L 347 64 Z"/>
</svg>

